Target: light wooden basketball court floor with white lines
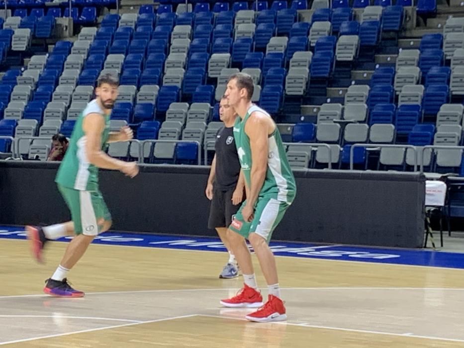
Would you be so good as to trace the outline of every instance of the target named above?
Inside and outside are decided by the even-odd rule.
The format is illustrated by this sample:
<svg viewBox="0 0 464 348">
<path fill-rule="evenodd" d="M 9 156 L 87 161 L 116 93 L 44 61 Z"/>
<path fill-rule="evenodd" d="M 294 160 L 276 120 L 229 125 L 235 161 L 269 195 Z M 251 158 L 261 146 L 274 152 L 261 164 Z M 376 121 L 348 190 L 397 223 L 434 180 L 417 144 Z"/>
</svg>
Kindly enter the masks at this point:
<svg viewBox="0 0 464 348">
<path fill-rule="evenodd" d="M 464 271 L 277 257 L 288 321 L 221 308 L 242 278 L 225 253 L 94 244 L 70 272 L 80 299 L 42 293 L 66 243 L 35 263 L 0 240 L 0 345 L 11 347 L 464 347 Z M 258 283 L 267 296 L 257 266 Z"/>
</svg>

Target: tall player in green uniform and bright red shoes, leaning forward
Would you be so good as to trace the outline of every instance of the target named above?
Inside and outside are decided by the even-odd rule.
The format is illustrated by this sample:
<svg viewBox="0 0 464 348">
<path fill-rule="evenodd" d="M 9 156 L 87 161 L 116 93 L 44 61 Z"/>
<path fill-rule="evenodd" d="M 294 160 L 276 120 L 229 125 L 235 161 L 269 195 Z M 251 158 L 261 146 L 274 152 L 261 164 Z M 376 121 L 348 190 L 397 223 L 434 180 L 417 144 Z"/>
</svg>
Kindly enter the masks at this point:
<svg viewBox="0 0 464 348">
<path fill-rule="evenodd" d="M 225 96 L 240 117 L 234 125 L 235 144 L 245 176 L 247 199 L 229 229 L 229 241 L 243 272 L 244 287 L 234 297 L 221 301 L 225 307 L 261 307 L 246 316 L 250 321 L 286 320 L 280 299 L 277 267 L 268 246 L 272 233 L 296 194 L 295 178 L 285 155 L 278 128 L 271 116 L 252 104 L 253 80 L 243 73 L 233 75 Z M 268 284 L 268 302 L 258 290 L 248 239 Z"/>
</svg>

